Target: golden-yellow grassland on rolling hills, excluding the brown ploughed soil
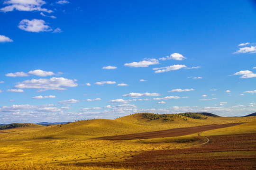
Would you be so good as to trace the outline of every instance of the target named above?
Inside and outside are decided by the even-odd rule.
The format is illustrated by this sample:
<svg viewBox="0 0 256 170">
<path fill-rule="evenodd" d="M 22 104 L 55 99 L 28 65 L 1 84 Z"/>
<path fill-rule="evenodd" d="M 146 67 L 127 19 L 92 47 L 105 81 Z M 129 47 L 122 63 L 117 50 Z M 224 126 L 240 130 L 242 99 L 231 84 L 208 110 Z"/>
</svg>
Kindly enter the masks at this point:
<svg viewBox="0 0 256 170">
<path fill-rule="evenodd" d="M 100 140 L 101 136 L 124 135 L 210 124 L 244 124 L 177 137 L 136 140 Z M 0 130 L 1 170 L 109 170 L 102 167 L 76 167 L 78 162 L 126 161 L 145 151 L 187 148 L 206 142 L 203 136 L 256 133 L 256 116 L 244 118 L 208 117 L 208 119 L 149 121 L 142 114 L 115 120 L 92 119 L 48 127 L 31 125 Z M 65 165 L 65 166 L 64 166 Z M 112 168 L 111 168 L 112 169 Z M 124 170 L 122 168 L 122 170 Z M 118 169 L 116 169 L 118 170 Z M 121 170 L 121 169 L 120 169 Z"/>
</svg>

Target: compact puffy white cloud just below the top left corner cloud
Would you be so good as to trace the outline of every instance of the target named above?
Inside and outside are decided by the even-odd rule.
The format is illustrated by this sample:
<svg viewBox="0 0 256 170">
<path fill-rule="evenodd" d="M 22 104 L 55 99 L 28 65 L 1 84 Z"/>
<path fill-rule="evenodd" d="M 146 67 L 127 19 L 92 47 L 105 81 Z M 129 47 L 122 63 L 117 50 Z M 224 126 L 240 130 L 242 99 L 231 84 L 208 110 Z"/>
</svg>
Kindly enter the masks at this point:
<svg viewBox="0 0 256 170">
<path fill-rule="evenodd" d="M 34 33 L 52 31 L 52 28 L 47 26 L 46 22 L 42 19 L 32 19 L 31 21 L 28 19 L 23 19 L 19 22 L 18 28 Z"/>
</svg>

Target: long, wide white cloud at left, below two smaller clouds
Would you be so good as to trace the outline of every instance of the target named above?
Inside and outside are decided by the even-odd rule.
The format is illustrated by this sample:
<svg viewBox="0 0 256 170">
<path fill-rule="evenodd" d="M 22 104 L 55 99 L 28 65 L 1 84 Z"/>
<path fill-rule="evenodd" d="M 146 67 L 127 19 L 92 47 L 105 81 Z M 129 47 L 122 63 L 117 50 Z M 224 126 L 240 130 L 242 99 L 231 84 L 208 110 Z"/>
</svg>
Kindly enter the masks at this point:
<svg viewBox="0 0 256 170">
<path fill-rule="evenodd" d="M 74 83 L 77 80 L 71 80 L 63 77 L 52 77 L 50 79 L 32 79 L 25 80 L 23 82 L 18 82 L 15 85 L 15 88 L 35 88 L 40 89 L 38 92 L 46 91 L 46 90 L 66 90 L 67 87 L 75 87 L 77 86 Z"/>
</svg>

